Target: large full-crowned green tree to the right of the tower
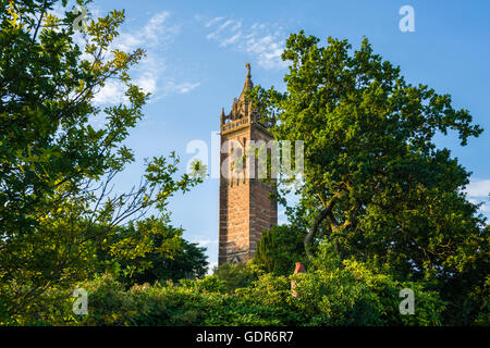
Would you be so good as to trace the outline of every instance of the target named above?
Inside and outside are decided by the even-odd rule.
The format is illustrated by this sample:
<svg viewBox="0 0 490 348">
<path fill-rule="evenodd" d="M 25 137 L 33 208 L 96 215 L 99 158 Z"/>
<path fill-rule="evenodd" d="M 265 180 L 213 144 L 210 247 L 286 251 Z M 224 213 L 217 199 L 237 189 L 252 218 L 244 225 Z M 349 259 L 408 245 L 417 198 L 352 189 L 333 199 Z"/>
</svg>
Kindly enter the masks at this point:
<svg viewBox="0 0 490 348">
<path fill-rule="evenodd" d="M 470 322 L 482 297 L 462 301 L 481 294 L 488 232 L 463 192 L 469 173 L 433 137 L 451 130 L 465 146 L 482 129 L 449 95 L 406 83 L 367 39 L 352 52 L 346 40 L 320 47 L 299 32 L 282 58 L 291 62 L 287 90 L 258 86 L 249 97 L 277 120 L 275 139 L 305 141 L 304 186 L 292 215 L 309 225 L 308 257 L 326 236 L 340 261 L 376 259 L 402 279 L 432 282 L 453 313 L 469 309 L 463 321 Z"/>
</svg>

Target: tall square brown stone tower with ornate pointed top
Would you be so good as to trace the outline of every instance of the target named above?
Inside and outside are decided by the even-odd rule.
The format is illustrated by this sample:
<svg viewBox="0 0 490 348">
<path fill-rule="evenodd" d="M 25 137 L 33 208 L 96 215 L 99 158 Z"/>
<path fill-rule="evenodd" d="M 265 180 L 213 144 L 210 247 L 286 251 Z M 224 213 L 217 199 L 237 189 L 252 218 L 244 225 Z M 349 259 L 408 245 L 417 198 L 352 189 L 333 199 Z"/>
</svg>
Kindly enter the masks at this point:
<svg viewBox="0 0 490 348">
<path fill-rule="evenodd" d="M 250 65 L 246 66 L 248 73 L 240 98 L 233 100 L 229 114 L 224 109 L 221 112 L 219 264 L 252 259 L 262 231 L 278 223 L 277 201 L 270 197 L 272 188 L 258 178 L 258 166 L 255 165 L 255 175 L 247 175 L 246 160 L 237 169 L 232 159 L 243 159 L 250 140 L 267 144 L 272 139 L 258 111 L 245 100 L 245 91 L 254 87 Z"/>
</svg>

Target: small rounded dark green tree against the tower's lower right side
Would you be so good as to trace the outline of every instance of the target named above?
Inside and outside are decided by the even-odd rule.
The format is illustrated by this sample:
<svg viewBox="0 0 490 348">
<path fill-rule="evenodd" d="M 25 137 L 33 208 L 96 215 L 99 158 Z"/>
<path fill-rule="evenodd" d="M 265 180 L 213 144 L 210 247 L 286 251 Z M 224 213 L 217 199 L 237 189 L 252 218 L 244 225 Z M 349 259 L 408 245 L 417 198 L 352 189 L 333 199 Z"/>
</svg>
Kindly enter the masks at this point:
<svg viewBox="0 0 490 348">
<path fill-rule="evenodd" d="M 305 233 L 293 225 L 273 226 L 264 231 L 254 263 L 266 273 L 291 275 L 296 262 L 305 262 Z"/>
</svg>

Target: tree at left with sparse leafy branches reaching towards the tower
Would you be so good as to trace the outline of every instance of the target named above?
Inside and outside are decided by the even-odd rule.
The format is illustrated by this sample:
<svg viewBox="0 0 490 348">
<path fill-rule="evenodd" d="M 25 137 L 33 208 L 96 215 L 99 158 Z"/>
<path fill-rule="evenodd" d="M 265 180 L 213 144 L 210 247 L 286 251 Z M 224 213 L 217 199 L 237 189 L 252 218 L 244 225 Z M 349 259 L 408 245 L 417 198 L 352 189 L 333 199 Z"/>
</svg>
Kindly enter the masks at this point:
<svg viewBox="0 0 490 348">
<path fill-rule="evenodd" d="M 130 69 L 145 52 L 111 47 L 124 11 L 89 21 L 78 35 L 66 2 L 0 1 L 0 313 L 13 319 L 96 270 L 95 250 L 115 226 L 149 209 L 166 220 L 168 199 L 200 181 L 176 177 L 172 153 L 149 161 L 130 192 L 111 194 L 134 161 L 123 141 L 149 95 Z M 65 12 L 57 16 L 56 4 Z M 109 79 L 121 82 L 125 101 L 101 110 L 94 96 Z"/>
</svg>

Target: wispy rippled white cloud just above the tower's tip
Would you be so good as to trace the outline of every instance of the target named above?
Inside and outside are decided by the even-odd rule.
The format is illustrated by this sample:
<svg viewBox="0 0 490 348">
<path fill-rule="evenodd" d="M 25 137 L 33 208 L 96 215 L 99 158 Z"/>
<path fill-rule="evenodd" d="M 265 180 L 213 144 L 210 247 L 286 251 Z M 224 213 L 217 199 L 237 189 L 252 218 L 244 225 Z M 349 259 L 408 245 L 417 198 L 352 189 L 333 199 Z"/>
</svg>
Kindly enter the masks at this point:
<svg viewBox="0 0 490 348">
<path fill-rule="evenodd" d="M 287 62 L 281 59 L 286 34 L 280 26 L 264 23 L 244 26 L 243 21 L 224 17 L 196 18 L 210 32 L 206 38 L 216 41 L 220 47 L 245 52 L 267 70 L 287 66 Z"/>
</svg>

